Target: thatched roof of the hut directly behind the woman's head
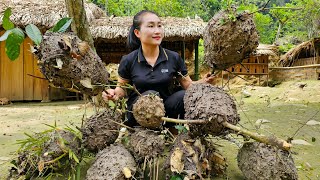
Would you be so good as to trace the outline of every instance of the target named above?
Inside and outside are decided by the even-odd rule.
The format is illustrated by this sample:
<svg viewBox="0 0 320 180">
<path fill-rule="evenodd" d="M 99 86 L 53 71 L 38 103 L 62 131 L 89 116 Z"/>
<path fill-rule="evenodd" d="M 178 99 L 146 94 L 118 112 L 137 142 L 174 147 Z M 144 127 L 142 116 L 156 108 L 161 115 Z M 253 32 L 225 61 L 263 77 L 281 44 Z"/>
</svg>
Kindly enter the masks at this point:
<svg viewBox="0 0 320 180">
<path fill-rule="evenodd" d="M 124 41 L 127 38 L 133 17 L 104 17 L 91 23 L 94 38 L 107 41 Z M 161 18 L 165 29 L 165 40 L 192 40 L 202 37 L 206 23 L 201 19 L 165 17 Z"/>
</svg>

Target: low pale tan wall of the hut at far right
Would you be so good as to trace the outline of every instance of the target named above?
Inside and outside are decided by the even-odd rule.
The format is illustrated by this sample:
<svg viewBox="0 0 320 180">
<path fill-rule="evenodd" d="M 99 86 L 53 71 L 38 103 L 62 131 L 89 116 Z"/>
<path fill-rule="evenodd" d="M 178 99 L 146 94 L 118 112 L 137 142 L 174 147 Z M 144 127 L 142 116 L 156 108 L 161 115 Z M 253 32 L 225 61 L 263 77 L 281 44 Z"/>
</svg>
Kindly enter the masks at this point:
<svg viewBox="0 0 320 180">
<path fill-rule="evenodd" d="M 298 67 L 274 67 L 269 68 L 269 77 L 273 80 L 319 80 L 320 65 L 298 66 Z"/>
</svg>

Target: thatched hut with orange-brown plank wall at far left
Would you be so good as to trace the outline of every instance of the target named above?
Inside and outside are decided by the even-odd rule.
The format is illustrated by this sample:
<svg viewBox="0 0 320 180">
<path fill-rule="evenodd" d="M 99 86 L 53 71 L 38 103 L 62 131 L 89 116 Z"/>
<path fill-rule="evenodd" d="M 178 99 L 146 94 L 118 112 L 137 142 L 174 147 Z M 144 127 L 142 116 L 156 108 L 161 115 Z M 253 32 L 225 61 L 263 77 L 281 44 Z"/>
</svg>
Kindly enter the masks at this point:
<svg viewBox="0 0 320 180">
<path fill-rule="evenodd" d="M 1 0 L 0 2 L 0 35 L 3 12 L 11 8 L 10 19 L 22 29 L 28 24 L 36 25 L 42 32 L 52 28 L 58 20 L 67 17 L 64 0 Z M 104 12 L 92 3 L 85 3 L 87 19 L 100 18 Z M 68 92 L 51 88 L 43 78 L 37 66 L 37 59 L 30 52 L 29 38 L 26 38 L 20 49 L 20 56 L 10 61 L 5 55 L 5 42 L 0 42 L 0 97 L 11 101 L 20 100 L 53 100 L 63 99 Z"/>
</svg>

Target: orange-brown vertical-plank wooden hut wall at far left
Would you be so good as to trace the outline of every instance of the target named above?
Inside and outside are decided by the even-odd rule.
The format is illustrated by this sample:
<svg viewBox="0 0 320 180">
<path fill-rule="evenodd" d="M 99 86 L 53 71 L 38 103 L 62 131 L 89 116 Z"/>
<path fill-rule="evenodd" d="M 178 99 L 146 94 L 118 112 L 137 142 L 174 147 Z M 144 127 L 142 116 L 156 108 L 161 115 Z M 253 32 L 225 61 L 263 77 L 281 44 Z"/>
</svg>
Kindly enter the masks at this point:
<svg viewBox="0 0 320 180">
<path fill-rule="evenodd" d="M 32 41 L 26 38 L 20 56 L 11 61 L 5 54 L 5 42 L 0 43 L 0 98 L 10 101 L 63 99 L 65 91 L 49 88 L 48 81 L 41 79 L 43 75 L 37 59 L 30 52 L 30 44 Z"/>
</svg>

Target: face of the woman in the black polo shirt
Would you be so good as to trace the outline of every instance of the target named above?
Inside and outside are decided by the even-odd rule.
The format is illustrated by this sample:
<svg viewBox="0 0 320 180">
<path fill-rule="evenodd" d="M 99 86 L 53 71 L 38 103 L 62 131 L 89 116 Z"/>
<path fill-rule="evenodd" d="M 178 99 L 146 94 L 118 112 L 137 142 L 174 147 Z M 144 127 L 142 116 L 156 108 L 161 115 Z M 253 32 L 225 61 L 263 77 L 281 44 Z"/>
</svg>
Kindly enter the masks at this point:
<svg viewBox="0 0 320 180">
<path fill-rule="evenodd" d="M 159 46 L 164 36 L 160 18 L 152 13 L 142 15 L 140 30 L 134 31 L 141 44 Z"/>
</svg>

